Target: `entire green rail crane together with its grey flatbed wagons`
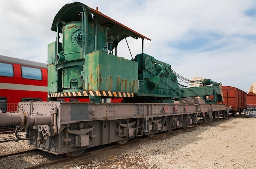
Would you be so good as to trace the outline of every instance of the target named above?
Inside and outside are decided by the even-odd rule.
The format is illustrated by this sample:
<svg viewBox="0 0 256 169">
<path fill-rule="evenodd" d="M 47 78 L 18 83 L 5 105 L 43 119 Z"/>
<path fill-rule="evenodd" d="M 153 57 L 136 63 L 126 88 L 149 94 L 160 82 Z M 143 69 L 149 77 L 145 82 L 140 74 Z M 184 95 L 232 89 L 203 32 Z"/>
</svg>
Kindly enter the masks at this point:
<svg viewBox="0 0 256 169">
<path fill-rule="evenodd" d="M 171 132 L 197 123 L 198 116 L 207 123 L 229 114 L 230 107 L 216 104 L 222 101 L 221 83 L 204 79 L 201 87 L 181 88 L 181 76 L 170 64 L 144 53 L 148 37 L 98 9 L 66 4 L 56 14 L 52 31 L 57 38 L 48 45 L 48 101 L 21 102 L 17 111 L 0 113 L 0 125 L 26 129 L 27 137 L 19 138 L 16 132 L 17 140 L 27 139 L 52 154 L 78 156 L 88 147 Z M 127 37 L 142 40 L 141 53 L 131 60 L 117 54 L 119 42 Z M 191 99 L 198 96 L 202 99 Z M 109 98 L 122 103 L 101 102 Z"/>
</svg>

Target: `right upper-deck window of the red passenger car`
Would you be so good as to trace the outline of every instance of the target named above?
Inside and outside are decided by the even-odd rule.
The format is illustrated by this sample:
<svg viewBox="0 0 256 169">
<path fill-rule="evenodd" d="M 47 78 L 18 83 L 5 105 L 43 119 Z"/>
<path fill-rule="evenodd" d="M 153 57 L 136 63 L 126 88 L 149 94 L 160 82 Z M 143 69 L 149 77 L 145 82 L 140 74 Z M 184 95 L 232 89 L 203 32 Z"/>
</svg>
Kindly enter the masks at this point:
<svg viewBox="0 0 256 169">
<path fill-rule="evenodd" d="M 39 68 L 21 66 L 21 75 L 24 79 L 42 80 L 42 70 Z"/>
</svg>

